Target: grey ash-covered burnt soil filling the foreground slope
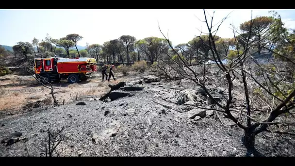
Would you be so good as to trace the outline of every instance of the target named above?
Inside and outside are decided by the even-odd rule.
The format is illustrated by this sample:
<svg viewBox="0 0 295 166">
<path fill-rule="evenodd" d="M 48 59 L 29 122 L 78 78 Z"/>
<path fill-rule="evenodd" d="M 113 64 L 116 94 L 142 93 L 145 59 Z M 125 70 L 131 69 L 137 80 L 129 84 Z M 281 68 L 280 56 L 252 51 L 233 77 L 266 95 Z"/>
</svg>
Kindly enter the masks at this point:
<svg viewBox="0 0 295 166">
<path fill-rule="evenodd" d="M 142 84 L 143 90 L 120 90 L 130 95 L 109 102 L 85 98 L 1 117 L 0 156 L 44 156 L 40 150 L 41 140 L 47 135 L 44 131 L 63 126 L 68 139 L 57 148 L 63 150 L 61 156 L 245 156 L 244 131 L 230 128 L 234 123 L 223 113 L 204 113 L 203 109 L 161 99 L 210 107 L 194 83 L 183 80 L 181 85 L 163 81 Z M 213 85 L 211 91 L 221 100 L 226 98 Z M 234 107 L 239 109 L 241 104 L 236 100 Z M 81 101 L 86 105 L 76 105 Z M 186 112 L 174 110 L 178 108 Z M 17 141 L 6 146 L 7 139 L 16 133 Z M 275 139 L 271 133 L 261 133 L 256 137 L 256 148 L 265 156 L 295 156 L 294 137 L 288 135 L 276 135 Z"/>
</svg>

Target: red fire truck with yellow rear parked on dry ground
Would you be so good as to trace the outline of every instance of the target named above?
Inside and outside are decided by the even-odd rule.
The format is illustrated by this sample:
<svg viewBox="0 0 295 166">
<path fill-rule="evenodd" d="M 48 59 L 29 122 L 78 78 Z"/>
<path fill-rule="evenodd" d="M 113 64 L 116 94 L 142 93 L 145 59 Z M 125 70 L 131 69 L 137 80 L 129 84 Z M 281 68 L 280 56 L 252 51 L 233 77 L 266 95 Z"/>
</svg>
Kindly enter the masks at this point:
<svg viewBox="0 0 295 166">
<path fill-rule="evenodd" d="M 87 80 L 97 71 L 95 58 L 35 58 L 34 73 L 44 77 L 49 83 L 68 79 L 69 83 Z"/>
</svg>

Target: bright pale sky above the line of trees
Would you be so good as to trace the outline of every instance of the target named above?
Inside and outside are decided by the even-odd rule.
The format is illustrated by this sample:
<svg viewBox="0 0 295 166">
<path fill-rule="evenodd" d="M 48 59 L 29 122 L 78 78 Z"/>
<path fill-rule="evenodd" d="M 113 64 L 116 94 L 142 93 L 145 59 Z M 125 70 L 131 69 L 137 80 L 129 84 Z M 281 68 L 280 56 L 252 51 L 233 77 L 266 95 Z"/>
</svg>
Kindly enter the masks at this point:
<svg viewBox="0 0 295 166">
<path fill-rule="evenodd" d="M 222 24 L 217 35 L 233 37 L 230 24 L 239 27 L 240 23 L 251 19 L 250 9 L 215 10 L 213 24 L 233 11 Z M 270 16 L 269 10 L 253 10 L 253 17 Z M 295 10 L 275 10 L 288 28 L 295 29 Z M 213 10 L 208 10 L 213 14 Z M 36 37 L 45 39 L 46 33 L 52 38 L 65 37 L 78 33 L 83 39 L 78 45 L 103 44 L 121 35 L 131 35 L 136 39 L 169 34 L 173 45 L 187 43 L 199 30 L 206 32 L 203 10 L 200 9 L 23 9 L 0 10 L 0 44 L 13 46 L 18 41 L 32 42 Z"/>
</svg>

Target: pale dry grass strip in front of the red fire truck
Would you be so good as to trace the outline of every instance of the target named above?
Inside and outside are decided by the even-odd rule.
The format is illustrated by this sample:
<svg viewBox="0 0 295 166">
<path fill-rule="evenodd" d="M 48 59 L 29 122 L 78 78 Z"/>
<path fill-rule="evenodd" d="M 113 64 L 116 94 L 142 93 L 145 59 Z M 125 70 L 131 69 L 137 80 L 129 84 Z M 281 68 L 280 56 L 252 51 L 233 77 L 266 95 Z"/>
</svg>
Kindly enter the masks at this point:
<svg viewBox="0 0 295 166">
<path fill-rule="evenodd" d="M 30 102 L 40 100 L 44 97 L 51 99 L 49 95 L 50 90 L 44 88 L 44 86 L 26 86 L 25 84 L 30 85 L 34 84 L 36 81 L 31 77 L 17 76 L 17 75 L 7 75 L 0 81 L 0 111 L 3 110 L 21 110 L 23 106 L 29 104 Z M 115 77 L 117 78 L 117 77 Z M 109 92 L 110 83 L 116 84 L 121 81 L 126 81 L 127 78 L 118 78 L 117 81 L 111 80 L 111 82 L 104 81 L 101 82 L 101 77 L 91 78 L 87 80 L 87 83 L 78 84 L 68 84 L 68 86 L 60 86 L 58 90 L 55 90 L 55 97 L 58 100 L 59 104 L 63 102 L 66 104 L 71 102 L 72 96 L 74 99 L 81 98 L 83 96 L 97 96 L 98 98 L 105 93 Z M 21 80 L 21 82 L 20 82 Z M 13 86 L 15 83 L 16 86 Z M 2 86 L 4 85 L 4 86 Z M 77 95 L 78 94 L 78 95 Z M 76 97 L 77 96 L 77 97 Z M 65 100 L 65 101 L 64 101 Z M 51 100 L 48 100 L 48 104 L 52 104 Z"/>
</svg>

